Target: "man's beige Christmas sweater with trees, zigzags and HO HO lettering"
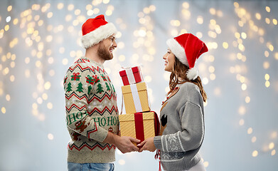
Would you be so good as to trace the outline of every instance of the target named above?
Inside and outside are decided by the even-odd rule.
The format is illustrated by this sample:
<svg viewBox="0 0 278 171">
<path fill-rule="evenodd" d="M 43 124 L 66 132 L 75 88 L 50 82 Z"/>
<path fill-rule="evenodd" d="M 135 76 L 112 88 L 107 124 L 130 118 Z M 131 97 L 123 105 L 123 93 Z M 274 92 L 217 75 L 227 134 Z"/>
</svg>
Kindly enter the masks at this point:
<svg viewBox="0 0 278 171">
<path fill-rule="evenodd" d="M 108 131 L 118 134 L 117 95 L 102 65 L 85 57 L 64 78 L 68 162 L 114 162 L 114 145 L 104 143 Z"/>
</svg>

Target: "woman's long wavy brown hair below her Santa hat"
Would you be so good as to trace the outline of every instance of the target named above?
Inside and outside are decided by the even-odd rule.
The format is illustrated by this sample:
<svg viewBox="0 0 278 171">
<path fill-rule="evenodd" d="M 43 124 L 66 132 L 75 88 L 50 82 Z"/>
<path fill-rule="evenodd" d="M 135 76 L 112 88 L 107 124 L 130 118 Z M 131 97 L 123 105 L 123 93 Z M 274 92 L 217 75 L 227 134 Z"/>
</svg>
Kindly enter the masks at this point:
<svg viewBox="0 0 278 171">
<path fill-rule="evenodd" d="M 188 71 L 188 66 L 181 63 L 181 61 L 178 60 L 175 56 L 175 63 L 173 64 L 173 71 L 170 75 L 170 81 L 169 81 L 169 92 L 172 93 L 173 89 L 176 87 L 177 84 L 182 84 L 186 82 L 191 82 L 196 84 L 200 88 L 200 93 L 203 97 L 203 101 L 205 102 L 207 100 L 207 95 L 205 93 L 205 90 L 203 89 L 201 78 L 198 76 L 195 80 L 189 80 L 186 76 L 186 72 Z M 178 78 L 181 78 L 182 81 L 178 81 Z"/>
</svg>

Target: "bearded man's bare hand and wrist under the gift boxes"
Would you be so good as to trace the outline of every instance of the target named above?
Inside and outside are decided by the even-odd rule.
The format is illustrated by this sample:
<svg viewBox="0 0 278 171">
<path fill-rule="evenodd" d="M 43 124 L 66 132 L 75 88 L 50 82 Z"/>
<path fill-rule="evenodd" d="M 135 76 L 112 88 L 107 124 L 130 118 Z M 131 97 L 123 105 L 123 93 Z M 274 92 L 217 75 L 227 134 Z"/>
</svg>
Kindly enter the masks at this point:
<svg viewBox="0 0 278 171">
<path fill-rule="evenodd" d="M 132 142 L 139 143 L 140 140 L 132 137 L 119 137 L 113 133 L 108 132 L 107 138 L 103 142 L 115 145 L 122 153 L 139 151 L 139 147 L 136 147 Z"/>
</svg>

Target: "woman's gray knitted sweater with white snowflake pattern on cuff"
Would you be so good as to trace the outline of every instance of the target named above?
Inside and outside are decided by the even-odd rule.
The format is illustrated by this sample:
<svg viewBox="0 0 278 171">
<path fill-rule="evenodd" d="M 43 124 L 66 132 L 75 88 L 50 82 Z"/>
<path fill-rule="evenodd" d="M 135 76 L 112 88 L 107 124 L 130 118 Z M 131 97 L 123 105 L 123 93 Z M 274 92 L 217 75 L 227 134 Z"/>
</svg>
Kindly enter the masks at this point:
<svg viewBox="0 0 278 171">
<path fill-rule="evenodd" d="M 156 149 L 161 150 L 164 170 L 188 170 L 201 157 L 198 151 L 203 143 L 205 125 L 203 98 L 193 83 L 178 85 L 163 104 L 161 133 L 154 137 Z"/>
</svg>

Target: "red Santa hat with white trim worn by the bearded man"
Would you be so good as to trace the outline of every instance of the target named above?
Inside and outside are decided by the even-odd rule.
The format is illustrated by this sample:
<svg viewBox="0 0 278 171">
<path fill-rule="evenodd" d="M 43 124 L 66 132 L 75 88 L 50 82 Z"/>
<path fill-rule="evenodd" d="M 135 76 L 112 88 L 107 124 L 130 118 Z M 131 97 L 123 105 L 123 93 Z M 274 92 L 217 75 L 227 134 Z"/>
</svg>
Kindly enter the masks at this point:
<svg viewBox="0 0 278 171">
<path fill-rule="evenodd" d="M 84 48 L 94 46 L 114 33 L 117 33 L 116 27 L 105 21 L 104 15 L 96 16 L 95 19 L 87 19 L 82 25 L 82 46 Z"/>
</svg>

